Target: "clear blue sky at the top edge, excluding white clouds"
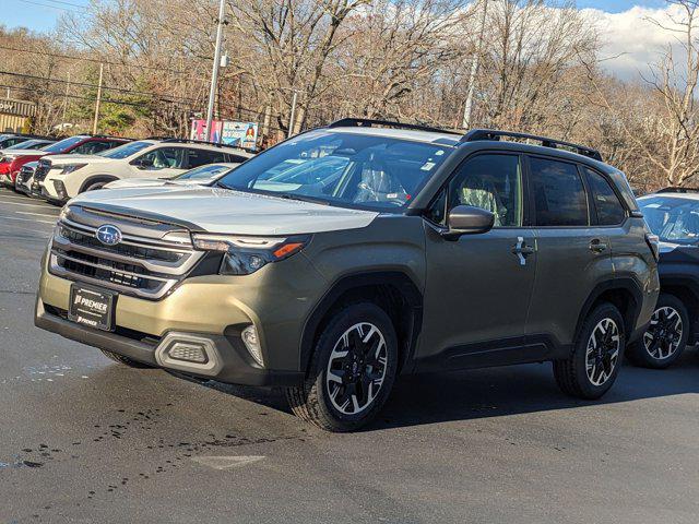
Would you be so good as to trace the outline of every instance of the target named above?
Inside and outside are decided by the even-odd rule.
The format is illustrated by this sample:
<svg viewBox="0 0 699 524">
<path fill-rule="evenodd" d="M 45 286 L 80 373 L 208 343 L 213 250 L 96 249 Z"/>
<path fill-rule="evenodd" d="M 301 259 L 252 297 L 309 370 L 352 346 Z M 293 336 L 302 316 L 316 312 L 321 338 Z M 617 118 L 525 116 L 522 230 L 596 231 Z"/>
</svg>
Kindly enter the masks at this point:
<svg viewBox="0 0 699 524">
<path fill-rule="evenodd" d="M 90 0 L 0 0 L 0 24 L 7 27 L 24 26 L 34 31 L 50 31 L 56 20 L 67 11 L 80 12 L 80 5 Z M 633 5 L 660 8 L 663 0 L 578 0 L 579 8 L 596 8 L 612 13 L 626 11 Z"/>
</svg>

